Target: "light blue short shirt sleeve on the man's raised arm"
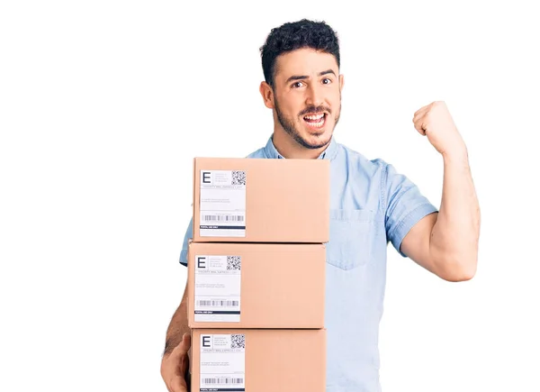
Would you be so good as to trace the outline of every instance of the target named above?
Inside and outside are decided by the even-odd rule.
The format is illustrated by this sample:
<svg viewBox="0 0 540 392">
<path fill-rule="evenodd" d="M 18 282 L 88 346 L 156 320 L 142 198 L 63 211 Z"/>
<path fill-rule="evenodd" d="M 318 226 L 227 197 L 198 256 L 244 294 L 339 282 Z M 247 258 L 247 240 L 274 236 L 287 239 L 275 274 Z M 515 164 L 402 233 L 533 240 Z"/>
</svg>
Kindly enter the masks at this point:
<svg viewBox="0 0 540 392">
<path fill-rule="evenodd" d="M 386 202 L 386 238 L 401 256 L 407 257 L 401 251 L 403 238 L 420 219 L 436 213 L 437 208 L 420 193 L 419 187 L 390 164 L 386 165 L 383 172 L 383 192 Z"/>
</svg>

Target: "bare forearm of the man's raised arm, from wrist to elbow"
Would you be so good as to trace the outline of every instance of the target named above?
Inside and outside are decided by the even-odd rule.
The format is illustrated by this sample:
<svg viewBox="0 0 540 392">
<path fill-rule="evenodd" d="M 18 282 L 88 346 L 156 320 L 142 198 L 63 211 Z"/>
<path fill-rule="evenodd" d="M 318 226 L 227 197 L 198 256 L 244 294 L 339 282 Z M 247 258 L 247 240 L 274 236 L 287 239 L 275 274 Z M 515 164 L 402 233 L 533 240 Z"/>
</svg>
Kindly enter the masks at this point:
<svg viewBox="0 0 540 392">
<path fill-rule="evenodd" d="M 443 154 L 443 160 L 443 196 L 429 251 L 438 269 L 465 280 L 476 272 L 480 206 L 466 149 Z"/>
</svg>

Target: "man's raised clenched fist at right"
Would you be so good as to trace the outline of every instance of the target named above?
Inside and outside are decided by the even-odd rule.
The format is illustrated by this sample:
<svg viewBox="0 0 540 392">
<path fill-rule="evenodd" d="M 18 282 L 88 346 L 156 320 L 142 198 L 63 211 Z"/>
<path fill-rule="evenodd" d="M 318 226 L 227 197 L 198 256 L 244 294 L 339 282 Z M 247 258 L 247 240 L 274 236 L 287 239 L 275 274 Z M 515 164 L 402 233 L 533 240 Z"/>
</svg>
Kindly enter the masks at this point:
<svg viewBox="0 0 540 392">
<path fill-rule="evenodd" d="M 466 151 L 465 143 L 443 101 L 420 108 L 412 122 L 420 134 L 428 136 L 428 141 L 441 154 L 456 155 Z"/>
</svg>

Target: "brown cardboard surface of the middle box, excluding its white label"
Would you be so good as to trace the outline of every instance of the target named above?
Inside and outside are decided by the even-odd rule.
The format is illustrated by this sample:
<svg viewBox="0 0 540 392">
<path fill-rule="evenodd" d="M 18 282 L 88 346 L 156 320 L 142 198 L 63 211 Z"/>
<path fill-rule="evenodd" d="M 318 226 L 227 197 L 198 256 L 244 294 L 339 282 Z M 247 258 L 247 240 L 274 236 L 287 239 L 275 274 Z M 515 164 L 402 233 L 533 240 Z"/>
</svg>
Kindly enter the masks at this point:
<svg viewBox="0 0 540 392">
<path fill-rule="evenodd" d="M 190 328 L 324 327 L 324 244 L 190 242 L 188 246 Z M 194 321 L 195 258 L 209 255 L 241 258 L 239 322 Z M 200 264 L 208 267 L 204 260 Z"/>
</svg>

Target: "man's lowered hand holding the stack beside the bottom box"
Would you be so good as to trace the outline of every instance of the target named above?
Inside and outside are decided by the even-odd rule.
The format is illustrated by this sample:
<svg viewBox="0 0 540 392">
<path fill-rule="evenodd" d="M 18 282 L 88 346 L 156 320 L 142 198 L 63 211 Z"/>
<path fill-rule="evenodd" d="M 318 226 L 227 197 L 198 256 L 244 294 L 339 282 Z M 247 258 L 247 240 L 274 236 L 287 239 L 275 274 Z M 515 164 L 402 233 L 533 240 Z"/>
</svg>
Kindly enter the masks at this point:
<svg viewBox="0 0 540 392">
<path fill-rule="evenodd" d="M 185 375 L 189 369 L 189 357 L 187 351 L 191 347 L 191 336 L 184 333 L 180 342 L 169 354 L 161 360 L 161 377 L 165 381 L 169 392 L 189 392 Z"/>
</svg>

